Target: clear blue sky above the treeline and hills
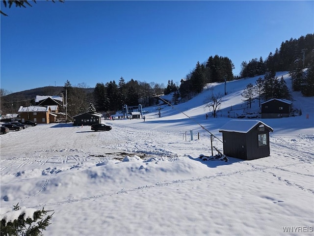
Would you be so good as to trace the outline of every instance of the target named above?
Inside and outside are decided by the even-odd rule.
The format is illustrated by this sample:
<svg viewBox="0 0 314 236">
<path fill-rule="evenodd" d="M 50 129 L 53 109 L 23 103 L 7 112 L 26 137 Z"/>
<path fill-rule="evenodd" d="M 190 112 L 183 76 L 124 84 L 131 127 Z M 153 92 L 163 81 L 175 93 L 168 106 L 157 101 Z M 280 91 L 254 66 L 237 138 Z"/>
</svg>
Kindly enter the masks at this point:
<svg viewBox="0 0 314 236">
<path fill-rule="evenodd" d="M 314 33 L 314 1 L 56 1 L 4 8 L 1 89 L 180 82 L 210 56 L 266 59 Z M 46 94 L 43 94 L 46 95 Z"/>
</svg>

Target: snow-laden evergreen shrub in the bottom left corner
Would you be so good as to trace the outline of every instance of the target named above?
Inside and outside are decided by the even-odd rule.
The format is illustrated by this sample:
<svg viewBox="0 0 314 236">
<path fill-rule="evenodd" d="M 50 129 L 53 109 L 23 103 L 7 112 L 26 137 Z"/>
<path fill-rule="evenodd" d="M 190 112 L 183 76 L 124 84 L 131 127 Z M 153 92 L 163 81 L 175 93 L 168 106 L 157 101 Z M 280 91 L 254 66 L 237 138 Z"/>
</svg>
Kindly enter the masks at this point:
<svg viewBox="0 0 314 236">
<path fill-rule="evenodd" d="M 46 230 L 47 226 L 51 224 L 49 221 L 52 219 L 53 213 L 42 219 L 48 212 L 44 208 L 38 210 L 22 208 L 18 205 L 13 206 L 13 209 L 1 208 L 1 236 L 42 235 L 42 231 Z"/>
</svg>

